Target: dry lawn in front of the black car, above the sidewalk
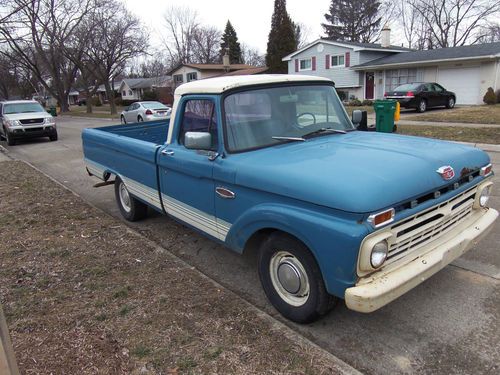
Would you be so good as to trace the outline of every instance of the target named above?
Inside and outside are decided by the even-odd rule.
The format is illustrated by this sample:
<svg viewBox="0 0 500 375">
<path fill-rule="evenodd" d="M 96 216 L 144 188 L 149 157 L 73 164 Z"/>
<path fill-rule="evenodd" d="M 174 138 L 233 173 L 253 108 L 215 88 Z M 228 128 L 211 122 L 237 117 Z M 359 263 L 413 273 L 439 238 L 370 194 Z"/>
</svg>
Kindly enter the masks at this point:
<svg viewBox="0 0 500 375">
<path fill-rule="evenodd" d="M 408 117 L 408 120 L 500 125 L 500 104 L 429 110 L 428 113 Z"/>
</svg>

